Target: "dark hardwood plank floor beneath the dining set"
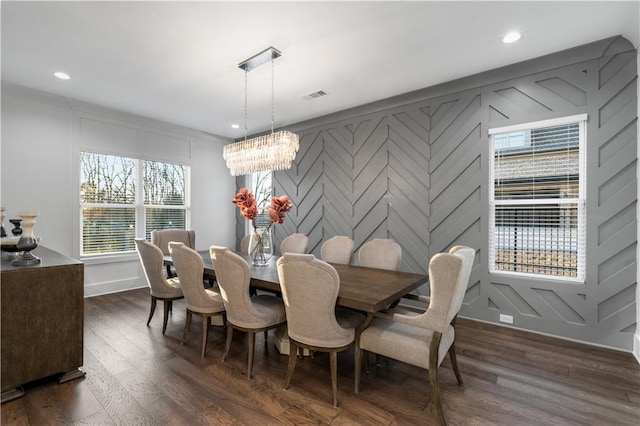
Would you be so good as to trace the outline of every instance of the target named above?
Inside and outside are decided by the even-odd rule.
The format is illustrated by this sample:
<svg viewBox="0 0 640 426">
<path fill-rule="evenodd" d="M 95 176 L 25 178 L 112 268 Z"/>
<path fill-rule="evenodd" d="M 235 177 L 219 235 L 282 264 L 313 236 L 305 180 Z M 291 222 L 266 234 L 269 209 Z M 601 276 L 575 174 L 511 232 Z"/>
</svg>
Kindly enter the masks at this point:
<svg viewBox="0 0 640 426">
<path fill-rule="evenodd" d="M 2 405 L 2 424 L 438 424 L 426 370 L 385 359 L 376 367 L 372 358 L 356 395 L 353 351 L 345 351 L 334 408 L 327 354 L 299 360 L 283 390 L 288 357 L 272 332 L 267 344 L 257 335 L 247 380 L 243 334 L 222 363 L 225 333 L 211 326 L 201 358 L 195 317 L 180 344 L 182 301 L 164 336 L 162 307 L 150 327 L 148 309 L 146 289 L 86 299 L 86 377 L 26 386 L 25 396 Z M 631 354 L 464 319 L 456 329 L 464 386 L 448 358 L 439 370 L 450 425 L 640 424 L 640 366 Z"/>
</svg>

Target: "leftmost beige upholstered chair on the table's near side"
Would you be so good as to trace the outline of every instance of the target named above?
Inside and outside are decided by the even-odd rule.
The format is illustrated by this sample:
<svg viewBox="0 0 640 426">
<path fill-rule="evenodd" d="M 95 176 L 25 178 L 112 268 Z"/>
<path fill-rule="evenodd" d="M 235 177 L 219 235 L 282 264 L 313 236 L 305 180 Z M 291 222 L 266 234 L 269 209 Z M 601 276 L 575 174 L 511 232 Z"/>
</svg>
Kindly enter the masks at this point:
<svg viewBox="0 0 640 426">
<path fill-rule="evenodd" d="M 144 238 L 136 238 L 136 251 L 142 263 L 144 276 L 147 278 L 147 284 L 151 293 L 151 309 L 149 310 L 149 318 L 147 326 L 153 318 L 156 311 L 156 302 L 162 300 L 164 302 L 164 319 L 162 321 L 162 334 L 167 330 L 167 320 L 169 319 L 169 311 L 172 309 L 173 301 L 182 299 L 182 288 L 180 288 L 180 280 L 178 278 L 165 278 L 162 273 L 162 251 L 151 244 Z"/>
</svg>

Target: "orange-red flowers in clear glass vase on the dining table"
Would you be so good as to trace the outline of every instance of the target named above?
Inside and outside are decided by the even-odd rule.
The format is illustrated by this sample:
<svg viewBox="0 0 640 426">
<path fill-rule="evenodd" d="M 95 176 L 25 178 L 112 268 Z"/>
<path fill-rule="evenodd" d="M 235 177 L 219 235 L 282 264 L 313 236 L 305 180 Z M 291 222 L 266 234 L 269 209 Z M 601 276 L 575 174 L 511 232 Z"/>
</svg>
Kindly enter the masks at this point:
<svg viewBox="0 0 640 426">
<path fill-rule="evenodd" d="M 240 209 L 240 214 L 245 219 L 250 220 L 253 225 L 253 233 L 251 234 L 251 242 L 249 243 L 249 255 L 254 265 L 266 264 L 273 254 L 273 246 L 271 244 L 271 226 L 274 223 L 284 223 L 287 212 L 291 210 L 293 204 L 287 195 L 280 197 L 272 197 L 271 205 L 267 207 L 269 212 L 269 221 L 266 224 L 257 224 L 256 219 L 259 216 L 258 204 L 256 198 L 248 188 L 242 188 L 235 197 L 233 204 Z"/>
</svg>

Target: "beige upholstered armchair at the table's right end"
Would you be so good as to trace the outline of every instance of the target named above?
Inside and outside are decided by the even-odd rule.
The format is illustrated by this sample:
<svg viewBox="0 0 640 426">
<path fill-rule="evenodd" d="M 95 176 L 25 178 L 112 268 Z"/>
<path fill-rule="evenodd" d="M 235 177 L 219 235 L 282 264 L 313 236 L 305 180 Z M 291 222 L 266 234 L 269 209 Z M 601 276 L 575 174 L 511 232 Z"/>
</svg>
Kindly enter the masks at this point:
<svg viewBox="0 0 640 426">
<path fill-rule="evenodd" d="M 361 351 L 374 352 L 429 370 L 433 403 L 446 424 L 438 387 L 438 367 L 449 353 L 451 365 L 462 385 L 455 353 L 455 319 L 462 306 L 475 250 L 456 246 L 449 253 L 438 253 L 429 262 L 430 297 L 413 299 L 427 303 L 428 309 L 419 315 L 376 314 L 371 324 L 356 337 L 355 385 L 360 387 Z"/>
</svg>

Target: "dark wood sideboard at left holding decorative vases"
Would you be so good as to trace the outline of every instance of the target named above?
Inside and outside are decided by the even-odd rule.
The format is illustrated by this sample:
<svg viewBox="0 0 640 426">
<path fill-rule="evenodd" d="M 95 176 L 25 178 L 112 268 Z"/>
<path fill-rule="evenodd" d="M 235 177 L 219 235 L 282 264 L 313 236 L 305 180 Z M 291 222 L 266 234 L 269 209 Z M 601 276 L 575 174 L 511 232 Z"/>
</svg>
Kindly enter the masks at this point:
<svg viewBox="0 0 640 426">
<path fill-rule="evenodd" d="M 35 266 L 0 263 L 2 402 L 24 394 L 22 385 L 60 375 L 84 376 L 84 264 L 46 247 Z"/>
</svg>

